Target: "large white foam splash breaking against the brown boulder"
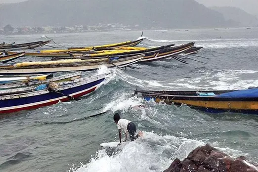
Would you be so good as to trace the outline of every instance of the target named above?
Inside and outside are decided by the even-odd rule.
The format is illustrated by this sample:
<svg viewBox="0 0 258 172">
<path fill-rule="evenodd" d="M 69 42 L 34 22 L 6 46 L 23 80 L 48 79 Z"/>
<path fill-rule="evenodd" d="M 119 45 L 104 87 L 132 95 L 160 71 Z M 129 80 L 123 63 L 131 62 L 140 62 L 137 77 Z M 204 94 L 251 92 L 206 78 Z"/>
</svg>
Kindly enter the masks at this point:
<svg viewBox="0 0 258 172">
<path fill-rule="evenodd" d="M 144 132 L 143 139 L 130 142 L 121 152 L 108 156 L 104 150 L 99 150 L 88 164 L 71 168 L 69 172 L 160 172 L 170 166 L 171 155 L 182 142 L 172 135 Z"/>
</svg>

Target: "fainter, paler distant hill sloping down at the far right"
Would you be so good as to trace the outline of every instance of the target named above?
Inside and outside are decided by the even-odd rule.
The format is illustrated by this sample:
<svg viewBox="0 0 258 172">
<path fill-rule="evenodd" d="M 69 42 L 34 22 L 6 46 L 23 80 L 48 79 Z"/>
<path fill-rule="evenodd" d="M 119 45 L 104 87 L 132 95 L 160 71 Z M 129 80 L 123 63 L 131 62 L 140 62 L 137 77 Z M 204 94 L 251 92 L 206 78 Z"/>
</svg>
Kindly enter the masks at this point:
<svg viewBox="0 0 258 172">
<path fill-rule="evenodd" d="M 230 6 L 214 6 L 210 8 L 223 14 L 226 20 L 234 20 L 236 22 L 239 22 L 241 26 L 258 25 L 258 18 L 256 16 L 249 14 L 240 8 Z"/>
</svg>

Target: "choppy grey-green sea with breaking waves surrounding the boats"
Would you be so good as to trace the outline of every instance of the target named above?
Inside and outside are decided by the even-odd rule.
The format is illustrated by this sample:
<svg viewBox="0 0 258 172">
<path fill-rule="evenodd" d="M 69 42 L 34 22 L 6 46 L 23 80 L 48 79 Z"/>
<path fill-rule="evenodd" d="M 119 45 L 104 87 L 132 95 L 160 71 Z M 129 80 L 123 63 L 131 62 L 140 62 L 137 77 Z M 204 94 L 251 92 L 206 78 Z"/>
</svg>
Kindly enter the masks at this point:
<svg viewBox="0 0 258 172">
<path fill-rule="evenodd" d="M 49 34 L 62 46 L 86 46 L 136 40 L 140 31 Z M 183 160 L 197 146 L 211 144 L 232 157 L 258 164 L 258 116 L 210 114 L 187 106 L 157 104 L 133 96 L 134 89 L 206 90 L 258 86 L 258 28 L 144 31 L 138 46 L 195 42 L 204 48 L 187 56 L 207 64 L 174 59 L 114 71 L 94 93 L 79 101 L 59 102 L 0 119 L 1 172 L 161 172 L 174 158 Z M 0 36 L 0 42 L 34 42 L 41 35 Z M 50 43 L 54 45 L 54 43 Z M 56 45 L 58 46 L 58 45 Z M 35 60 L 22 57 L 16 61 Z M 40 59 L 40 58 L 38 58 Z M 57 74 L 58 75 L 58 74 Z M 146 108 L 133 109 L 143 104 Z M 85 120 L 100 112 L 105 114 Z M 114 113 L 133 121 L 143 138 L 118 152 L 100 147 L 118 140 Z M 67 123 L 68 122 L 68 123 Z"/>
</svg>

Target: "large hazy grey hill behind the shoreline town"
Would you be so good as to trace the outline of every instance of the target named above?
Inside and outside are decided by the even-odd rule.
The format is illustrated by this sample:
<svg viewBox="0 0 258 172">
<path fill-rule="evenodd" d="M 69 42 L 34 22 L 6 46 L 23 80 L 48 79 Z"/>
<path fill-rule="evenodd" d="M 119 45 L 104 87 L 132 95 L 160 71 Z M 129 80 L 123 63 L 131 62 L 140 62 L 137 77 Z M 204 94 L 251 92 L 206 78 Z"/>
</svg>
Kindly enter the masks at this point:
<svg viewBox="0 0 258 172">
<path fill-rule="evenodd" d="M 98 23 L 170 29 L 237 25 L 194 0 L 28 0 L 0 4 L 1 27 Z"/>
</svg>

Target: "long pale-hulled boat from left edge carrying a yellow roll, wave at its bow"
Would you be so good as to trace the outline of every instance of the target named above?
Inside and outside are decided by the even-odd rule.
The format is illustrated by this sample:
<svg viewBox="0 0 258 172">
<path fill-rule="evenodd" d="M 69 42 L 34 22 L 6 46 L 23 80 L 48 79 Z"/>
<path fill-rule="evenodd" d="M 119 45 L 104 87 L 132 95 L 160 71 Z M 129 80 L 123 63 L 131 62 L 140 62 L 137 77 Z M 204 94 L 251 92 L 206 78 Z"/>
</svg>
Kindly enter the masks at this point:
<svg viewBox="0 0 258 172">
<path fill-rule="evenodd" d="M 42 74 L 65 71 L 89 71 L 98 69 L 101 65 L 108 68 L 127 67 L 137 63 L 144 58 L 144 55 L 136 55 L 126 58 L 110 59 L 98 58 L 90 60 L 59 60 L 59 61 L 42 61 L 42 62 L 23 62 L 10 66 L 0 66 L 0 74 L 17 75 L 17 74 Z M 97 60 L 97 62 L 92 62 Z"/>
</svg>

